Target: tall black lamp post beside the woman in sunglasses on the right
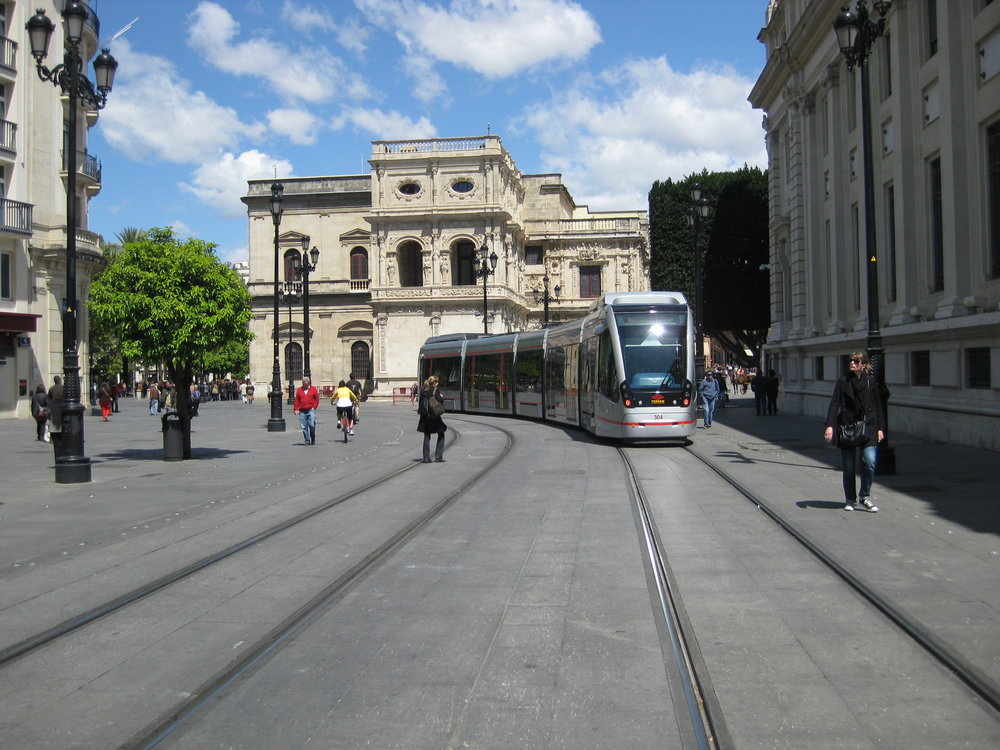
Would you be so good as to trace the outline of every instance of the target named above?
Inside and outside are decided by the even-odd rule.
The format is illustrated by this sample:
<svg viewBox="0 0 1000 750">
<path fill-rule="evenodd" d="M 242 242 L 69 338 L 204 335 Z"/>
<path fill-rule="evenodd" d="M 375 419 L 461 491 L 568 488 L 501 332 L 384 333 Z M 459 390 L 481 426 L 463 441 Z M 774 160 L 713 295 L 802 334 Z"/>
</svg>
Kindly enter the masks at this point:
<svg viewBox="0 0 1000 750">
<path fill-rule="evenodd" d="M 879 324 L 878 299 L 878 252 L 875 236 L 875 175 L 872 166 L 872 114 L 871 93 L 868 84 L 868 57 L 872 45 L 885 31 L 885 15 L 892 6 L 890 0 L 875 0 L 872 9 L 878 18 L 872 17 L 867 0 L 857 0 L 852 11 L 844 6 L 833 22 L 837 34 L 837 44 L 847 60 L 847 69 L 858 69 L 861 76 L 861 145 L 864 160 L 865 188 L 865 258 L 868 281 L 868 337 L 865 346 L 868 361 L 871 362 L 885 415 L 885 439 L 879 445 L 878 473 L 896 473 L 896 451 L 889 445 L 889 389 L 885 384 L 885 349 L 882 347 L 882 331 Z"/>
</svg>

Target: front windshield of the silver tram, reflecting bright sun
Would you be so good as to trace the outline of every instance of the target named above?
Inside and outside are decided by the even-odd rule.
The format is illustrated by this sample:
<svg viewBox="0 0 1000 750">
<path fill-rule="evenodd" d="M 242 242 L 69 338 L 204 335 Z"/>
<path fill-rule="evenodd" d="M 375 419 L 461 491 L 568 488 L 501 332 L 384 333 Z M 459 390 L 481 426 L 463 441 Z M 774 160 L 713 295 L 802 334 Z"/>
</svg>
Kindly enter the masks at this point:
<svg viewBox="0 0 1000 750">
<path fill-rule="evenodd" d="M 687 311 L 615 311 L 632 389 L 684 388 L 687 380 Z"/>
</svg>

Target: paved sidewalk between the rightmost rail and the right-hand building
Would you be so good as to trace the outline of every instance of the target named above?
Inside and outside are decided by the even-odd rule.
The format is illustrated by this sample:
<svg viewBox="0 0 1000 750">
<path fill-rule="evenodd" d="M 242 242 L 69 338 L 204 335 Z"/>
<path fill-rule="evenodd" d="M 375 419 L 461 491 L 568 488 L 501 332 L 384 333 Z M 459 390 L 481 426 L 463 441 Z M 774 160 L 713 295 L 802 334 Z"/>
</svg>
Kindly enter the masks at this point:
<svg viewBox="0 0 1000 750">
<path fill-rule="evenodd" d="M 1000 456 L 894 435 L 897 473 L 876 474 L 872 489 L 879 512 L 848 513 L 840 452 L 823 428 L 817 417 L 755 416 L 740 396 L 699 426 L 692 449 L 1000 692 Z"/>
</svg>

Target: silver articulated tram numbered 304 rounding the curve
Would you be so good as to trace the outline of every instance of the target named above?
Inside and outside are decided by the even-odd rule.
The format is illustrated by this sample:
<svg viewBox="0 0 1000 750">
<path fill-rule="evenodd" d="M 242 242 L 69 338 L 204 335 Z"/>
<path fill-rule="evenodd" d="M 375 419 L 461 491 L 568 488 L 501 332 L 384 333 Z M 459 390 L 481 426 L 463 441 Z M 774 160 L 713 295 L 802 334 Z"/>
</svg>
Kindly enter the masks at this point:
<svg viewBox="0 0 1000 750">
<path fill-rule="evenodd" d="M 535 331 L 432 336 L 421 382 L 437 375 L 449 411 L 581 427 L 603 438 L 694 433 L 694 321 L 679 292 L 604 294 L 587 315 Z"/>
</svg>

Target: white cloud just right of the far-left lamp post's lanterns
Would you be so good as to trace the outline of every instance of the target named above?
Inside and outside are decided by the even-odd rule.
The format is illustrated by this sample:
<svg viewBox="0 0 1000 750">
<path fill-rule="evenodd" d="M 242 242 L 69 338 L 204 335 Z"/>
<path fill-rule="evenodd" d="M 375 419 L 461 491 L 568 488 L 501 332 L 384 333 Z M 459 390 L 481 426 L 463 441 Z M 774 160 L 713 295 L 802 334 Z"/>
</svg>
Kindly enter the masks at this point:
<svg viewBox="0 0 1000 750">
<path fill-rule="evenodd" d="M 244 139 L 264 134 L 202 91 L 193 91 L 173 63 L 135 52 L 126 39 L 115 42 L 120 74 L 101 114 L 105 139 L 130 158 L 199 162 Z"/>
</svg>

